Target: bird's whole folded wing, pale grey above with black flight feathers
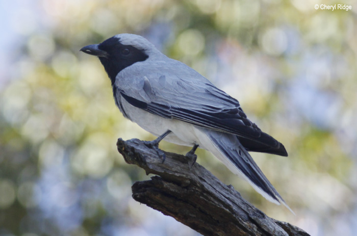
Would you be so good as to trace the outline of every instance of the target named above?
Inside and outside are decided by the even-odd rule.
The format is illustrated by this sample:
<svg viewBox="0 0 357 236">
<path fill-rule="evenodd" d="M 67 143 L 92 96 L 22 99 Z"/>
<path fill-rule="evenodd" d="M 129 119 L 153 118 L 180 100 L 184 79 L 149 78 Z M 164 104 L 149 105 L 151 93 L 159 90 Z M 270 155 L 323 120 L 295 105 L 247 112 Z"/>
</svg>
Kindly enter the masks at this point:
<svg viewBox="0 0 357 236">
<path fill-rule="evenodd" d="M 276 154 L 287 155 L 281 143 L 247 118 L 235 98 L 192 68 L 182 63 L 155 68 L 153 71 L 141 65 L 124 69 L 117 75 L 114 86 L 132 106 L 149 113 L 235 134 L 247 143 L 251 141 L 248 150 L 272 148 L 279 150 Z M 257 144 L 257 150 L 252 143 Z"/>
</svg>

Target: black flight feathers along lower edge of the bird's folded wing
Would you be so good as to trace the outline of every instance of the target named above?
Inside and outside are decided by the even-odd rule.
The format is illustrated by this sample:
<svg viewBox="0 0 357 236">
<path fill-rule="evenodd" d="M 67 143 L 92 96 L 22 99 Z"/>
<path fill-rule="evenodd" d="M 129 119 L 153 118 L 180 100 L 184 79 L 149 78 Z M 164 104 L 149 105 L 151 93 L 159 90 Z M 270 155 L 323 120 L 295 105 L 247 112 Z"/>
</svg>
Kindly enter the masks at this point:
<svg viewBox="0 0 357 236">
<path fill-rule="evenodd" d="M 262 132 L 256 124 L 246 118 L 245 113 L 240 107 L 218 110 L 213 106 L 205 105 L 202 110 L 189 110 L 167 106 L 157 102 L 146 103 L 128 96 L 123 92 L 120 92 L 120 94 L 132 106 L 152 114 L 235 134 L 248 151 L 288 155 L 283 144 Z M 232 100 L 227 99 L 226 101 L 233 103 Z M 239 106 L 238 101 L 235 105 Z"/>
</svg>

